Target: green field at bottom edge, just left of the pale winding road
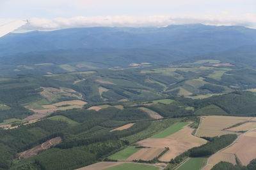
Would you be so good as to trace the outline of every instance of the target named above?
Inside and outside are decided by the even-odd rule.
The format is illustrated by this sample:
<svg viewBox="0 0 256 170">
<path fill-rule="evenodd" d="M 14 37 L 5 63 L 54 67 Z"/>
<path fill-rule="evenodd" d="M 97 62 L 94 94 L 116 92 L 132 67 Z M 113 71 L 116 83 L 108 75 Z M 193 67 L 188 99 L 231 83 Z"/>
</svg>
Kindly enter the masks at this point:
<svg viewBox="0 0 256 170">
<path fill-rule="evenodd" d="M 200 170 L 204 166 L 205 158 L 190 158 L 176 170 Z"/>
</svg>

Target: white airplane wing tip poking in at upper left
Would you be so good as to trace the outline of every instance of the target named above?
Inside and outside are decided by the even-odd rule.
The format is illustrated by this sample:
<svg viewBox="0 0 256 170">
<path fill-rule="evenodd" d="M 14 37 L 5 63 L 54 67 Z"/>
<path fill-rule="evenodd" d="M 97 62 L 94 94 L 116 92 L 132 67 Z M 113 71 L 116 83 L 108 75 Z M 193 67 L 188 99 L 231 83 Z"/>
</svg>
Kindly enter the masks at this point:
<svg viewBox="0 0 256 170">
<path fill-rule="evenodd" d="M 0 25 L 0 38 L 27 23 L 28 20 L 15 20 L 13 22 L 9 22 L 8 24 Z"/>
</svg>

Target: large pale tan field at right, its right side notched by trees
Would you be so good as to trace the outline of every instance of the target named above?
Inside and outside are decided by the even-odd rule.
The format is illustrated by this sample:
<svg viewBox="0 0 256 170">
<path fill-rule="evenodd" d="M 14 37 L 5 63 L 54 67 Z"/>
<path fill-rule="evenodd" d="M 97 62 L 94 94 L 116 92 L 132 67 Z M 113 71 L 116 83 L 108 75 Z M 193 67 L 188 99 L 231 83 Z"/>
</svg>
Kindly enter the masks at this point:
<svg viewBox="0 0 256 170">
<path fill-rule="evenodd" d="M 234 134 L 236 132 L 223 131 L 223 129 L 232 125 L 246 122 L 252 117 L 226 117 L 226 116 L 207 116 L 202 117 L 202 122 L 196 136 L 221 136 L 223 134 Z M 236 133 L 237 134 L 237 133 Z"/>
</svg>

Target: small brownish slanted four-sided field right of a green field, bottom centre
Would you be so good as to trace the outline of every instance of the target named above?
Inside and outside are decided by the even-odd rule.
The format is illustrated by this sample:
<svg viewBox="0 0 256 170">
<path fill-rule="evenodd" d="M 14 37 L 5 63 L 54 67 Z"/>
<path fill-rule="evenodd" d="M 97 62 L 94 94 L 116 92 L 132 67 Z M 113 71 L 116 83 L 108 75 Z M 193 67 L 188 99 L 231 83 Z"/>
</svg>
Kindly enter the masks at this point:
<svg viewBox="0 0 256 170">
<path fill-rule="evenodd" d="M 132 154 L 126 160 L 152 160 L 160 153 L 164 151 L 164 148 L 141 148 L 138 152 Z"/>
</svg>

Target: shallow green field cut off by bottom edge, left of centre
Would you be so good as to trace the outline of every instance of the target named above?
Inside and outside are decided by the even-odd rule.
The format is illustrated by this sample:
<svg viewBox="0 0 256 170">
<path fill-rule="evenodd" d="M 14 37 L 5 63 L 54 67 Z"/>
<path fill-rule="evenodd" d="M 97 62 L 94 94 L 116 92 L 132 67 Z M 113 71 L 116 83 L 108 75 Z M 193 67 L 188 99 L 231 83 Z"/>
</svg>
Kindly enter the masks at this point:
<svg viewBox="0 0 256 170">
<path fill-rule="evenodd" d="M 156 166 L 148 166 L 144 164 L 132 164 L 132 163 L 124 163 L 118 166 L 108 167 L 104 170 L 157 170 L 159 167 Z"/>
</svg>

